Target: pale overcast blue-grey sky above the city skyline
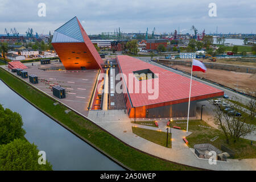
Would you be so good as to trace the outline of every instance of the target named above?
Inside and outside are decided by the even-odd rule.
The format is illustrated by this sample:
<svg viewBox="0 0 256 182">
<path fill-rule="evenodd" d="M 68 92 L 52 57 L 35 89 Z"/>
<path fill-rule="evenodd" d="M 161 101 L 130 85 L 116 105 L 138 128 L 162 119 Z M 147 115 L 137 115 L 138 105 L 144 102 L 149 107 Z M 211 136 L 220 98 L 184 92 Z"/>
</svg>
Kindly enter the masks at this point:
<svg viewBox="0 0 256 182">
<path fill-rule="evenodd" d="M 46 4 L 46 16 L 38 16 L 38 4 Z M 216 3 L 217 16 L 210 17 L 209 3 Z M 48 34 L 69 19 L 77 16 L 87 34 L 122 32 L 156 34 L 175 29 L 192 34 L 194 24 L 199 32 L 256 33 L 255 0 L 0 0 L 0 33 L 16 27 L 25 34 L 28 27 L 34 32 Z"/>
</svg>

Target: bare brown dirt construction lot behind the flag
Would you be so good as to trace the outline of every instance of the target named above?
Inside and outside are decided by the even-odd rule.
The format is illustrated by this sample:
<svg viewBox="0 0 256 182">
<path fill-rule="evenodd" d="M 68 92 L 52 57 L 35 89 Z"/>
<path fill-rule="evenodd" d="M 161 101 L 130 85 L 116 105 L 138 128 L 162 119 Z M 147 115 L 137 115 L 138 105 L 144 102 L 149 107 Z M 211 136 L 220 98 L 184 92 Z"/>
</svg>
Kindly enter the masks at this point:
<svg viewBox="0 0 256 182">
<path fill-rule="evenodd" d="M 184 65 L 172 65 L 170 67 L 191 73 L 191 67 Z M 250 94 L 253 94 L 256 90 L 256 74 L 207 69 L 205 73 L 193 72 L 193 75 L 217 82 L 243 93 L 249 94 L 251 92 Z"/>
</svg>

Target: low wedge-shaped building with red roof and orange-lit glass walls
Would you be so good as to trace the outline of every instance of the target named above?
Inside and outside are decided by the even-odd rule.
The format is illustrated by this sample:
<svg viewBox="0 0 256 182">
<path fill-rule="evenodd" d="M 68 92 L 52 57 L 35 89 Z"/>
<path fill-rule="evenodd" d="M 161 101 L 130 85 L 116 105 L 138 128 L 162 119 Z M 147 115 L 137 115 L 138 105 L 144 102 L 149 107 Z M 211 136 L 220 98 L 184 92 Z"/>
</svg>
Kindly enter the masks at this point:
<svg viewBox="0 0 256 182">
<path fill-rule="evenodd" d="M 122 73 L 123 88 L 127 90 L 125 102 L 130 118 L 134 116 L 138 118 L 187 117 L 189 78 L 130 56 L 117 56 L 117 62 L 119 72 Z M 139 76 L 135 73 L 138 73 Z M 148 73 L 151 73 L 152 76 L 145 76 Z M 127 78 L 123 75 L 126 75 Z M 131 77 L 128 75 L 131 75 Z M 129 79 L 134 80 L 132 84 Z M 142 85 L 149 79 L 151 79 L 152 85 L 155 85 L 155 82 L 158 81 L 158 90 L 154 90 L 154 92 L 158 92 L 158 97 L 149 99 L 155 93 L 150 93 L 148 90 L 146 93 L 130 92 L 138 83 L 139 90 L 142 90 Z M 191 117 L 196 115 L 196 102 L 222 97 L 223 95 L 222 90 L 193 80 L 189 115 Z"/>
</svg>

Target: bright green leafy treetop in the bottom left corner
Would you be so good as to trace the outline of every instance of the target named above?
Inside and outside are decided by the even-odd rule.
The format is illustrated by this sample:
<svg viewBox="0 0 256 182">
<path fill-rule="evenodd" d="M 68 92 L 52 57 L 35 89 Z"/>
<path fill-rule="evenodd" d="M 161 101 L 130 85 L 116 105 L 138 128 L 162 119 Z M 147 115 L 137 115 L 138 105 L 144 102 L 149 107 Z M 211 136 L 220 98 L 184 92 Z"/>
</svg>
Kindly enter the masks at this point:
<svg viewBox="0 0 256 182">
<path fill-rule="evenodd" d="M 0 146 L 0 171 L 50 171 L 51 164 L 39 164 L 39 150 L 34 143 L 24 139 Z"/>
</svg>

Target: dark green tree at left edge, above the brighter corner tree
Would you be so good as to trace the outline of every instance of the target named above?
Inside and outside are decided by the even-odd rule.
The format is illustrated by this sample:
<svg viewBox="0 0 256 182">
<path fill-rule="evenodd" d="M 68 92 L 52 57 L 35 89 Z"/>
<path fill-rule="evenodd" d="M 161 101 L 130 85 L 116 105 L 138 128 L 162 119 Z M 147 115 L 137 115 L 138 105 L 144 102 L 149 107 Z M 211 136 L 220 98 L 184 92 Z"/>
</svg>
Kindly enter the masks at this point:
<svg viewBox="0 0 256 182">
<path fill-rule="evenodd" d="M 0 105 L 0 144 L 7 144 L 16 138 L 23 138 L 26 131 L 22 129 L 22 117 L 11 111 L 4 109 Z"/>
</svg>

